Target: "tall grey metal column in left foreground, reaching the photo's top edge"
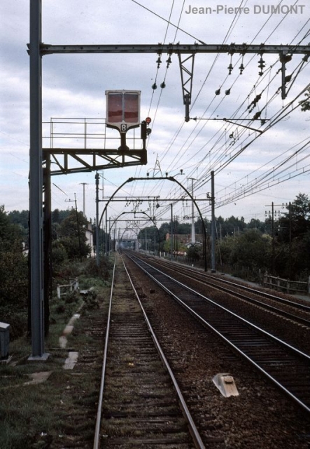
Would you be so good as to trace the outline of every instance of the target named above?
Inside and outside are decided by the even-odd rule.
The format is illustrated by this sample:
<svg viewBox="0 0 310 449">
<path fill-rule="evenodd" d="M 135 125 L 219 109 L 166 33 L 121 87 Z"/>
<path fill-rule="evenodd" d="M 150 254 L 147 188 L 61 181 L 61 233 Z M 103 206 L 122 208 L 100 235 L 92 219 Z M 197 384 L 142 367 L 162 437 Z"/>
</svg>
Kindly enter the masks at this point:
<svg viewBox="0 0 310 449">
<path fill-rule="evenodd" d="M 42 168 L 42 60 L 41 0 L 30 0 L 30 290 L 31 343 L 29 360 L 44 354 L 43 304 L 43 168 Z"/>
</svg>

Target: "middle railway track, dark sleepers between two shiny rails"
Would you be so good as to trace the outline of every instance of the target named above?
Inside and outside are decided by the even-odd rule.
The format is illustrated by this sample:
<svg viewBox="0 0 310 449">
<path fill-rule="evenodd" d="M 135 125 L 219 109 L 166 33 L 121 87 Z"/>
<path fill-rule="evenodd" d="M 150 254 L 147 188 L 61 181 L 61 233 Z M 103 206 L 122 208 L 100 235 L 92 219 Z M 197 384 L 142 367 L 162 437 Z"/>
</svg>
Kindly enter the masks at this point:
<svg viewBox="0 0 310 449">
<path fill-rule="evenodd" d="M 169 295 L 310 413 L 310 356 L 242 319 L 159 269 L 130 256 Z"/>
</svg>

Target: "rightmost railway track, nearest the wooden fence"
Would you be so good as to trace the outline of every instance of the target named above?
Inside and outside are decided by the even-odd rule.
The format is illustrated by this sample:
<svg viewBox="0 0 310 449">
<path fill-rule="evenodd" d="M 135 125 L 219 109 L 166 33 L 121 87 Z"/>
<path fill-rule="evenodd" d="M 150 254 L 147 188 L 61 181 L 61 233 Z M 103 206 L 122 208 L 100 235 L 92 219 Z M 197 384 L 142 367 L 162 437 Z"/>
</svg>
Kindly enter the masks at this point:
<svg viewBox="0 0 310 449">
<path fill-rule="evenodd" d="M 216 276 L 197 272 L 197 270 L 191 269 L 190 267 L 185 268 L 178 264 L 173 264 L 173 266 L 171 266 L 171 262 L 156 260 L 153 257 L 149 258 L 149 260 L 151 264 L 155 264 L 157 267 L 166 267 L 167 269 L 170 269 L 171 272 L 186 276 L 188 279 L 202 283 L 204 286 L 209 286 L 216 290 L 234 295 L 234 297 L 238 297 L 241 300 L 255 304 L 262 309 L 272 311 L 275 314 L 310 328 L 310 307 L 307 304 L 287 300 L 283 297 L 272 295 L 255 288 L 227 281 L 226 279 L 217 279 Z M 267 300 L 267 302 L 264 302 L 264 300 Z M 279 308 L 279 305 L 282 308 Z M 297 315 L 296 313 L 299 314 Z"/>
</svg>

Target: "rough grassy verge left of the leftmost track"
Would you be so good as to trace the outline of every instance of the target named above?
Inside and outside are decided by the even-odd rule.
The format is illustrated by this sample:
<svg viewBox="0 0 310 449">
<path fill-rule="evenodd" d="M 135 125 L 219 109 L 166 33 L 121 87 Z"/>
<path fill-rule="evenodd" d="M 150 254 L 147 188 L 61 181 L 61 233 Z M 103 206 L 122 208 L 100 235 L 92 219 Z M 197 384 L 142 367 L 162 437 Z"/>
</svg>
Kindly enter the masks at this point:
<svg viewBox="0 0 310 449">
<path fill-rule="evenodd" d="M 78 264 L 81 271 L 81 265 Z M 45 338 L 47 361 L 27 361 L 31 340 L 23 335 L 10 342 L 12 362 L 0 365 L 0 447 L 36 449 L 66 447 L 75 438 L 91 441 L 100 382 L 102 340 L 92 337 L 89 329 L 98 319 L 101 298 L 108 297 L 108 281 L 96 274 L 83 274 L 83 286 L 96 287 L 96 304 L 78 294 L 50 300 L 50 329 Z M 87 276 L 90 276 L 89 278 Z M 86 289 L 86 288 L 85 288 Z M 81 304 L 83 307 L 80 309 Z M 80 309 L 80 319 L 68 336 L 67 348 L 59 347 L 59 337 L 69 319 Z M 102 309 L 104 310 L 104 309 Z M 80 368 L 64 370 L 68 351 L 98 355 L 99 368 L 81 363 Z M 88 354 L 88 353 L 87 353 Z M 85 371 L 84 371 L 85 370 Z M 52 374 L 42 384 L 25 385 L 29 375 L 40 371 Z"/>
</svg>

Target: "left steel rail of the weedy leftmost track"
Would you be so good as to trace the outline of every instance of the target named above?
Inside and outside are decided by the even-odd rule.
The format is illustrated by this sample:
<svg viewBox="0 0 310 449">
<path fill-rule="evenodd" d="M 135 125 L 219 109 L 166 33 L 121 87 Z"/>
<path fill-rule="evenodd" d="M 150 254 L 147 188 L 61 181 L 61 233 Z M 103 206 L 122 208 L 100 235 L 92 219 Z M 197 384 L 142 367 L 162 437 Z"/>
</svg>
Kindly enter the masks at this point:
<svg viewBox="0 0 310 449">
<path fill-rule="evenodd" d="M 101 411 L 102 411 L 102 401 L 104 396 L 104 380 L 106 377 L 106 356 L 108 353 L 108 336 L 110 333 L 110 323 L 111 323 L 111 307 L 112 307 L 112 296 L 113 296 L 113 286 L 114 286 L 114 276 L 115 276 L 115 267 L 116 267 L 116 257 L 114 260 L 113 267 L 113 276 L 111 283 L 111 293 L 110 293 L 110 302 L 108 304 L 108 321 L 106 324 L 106 339 L 104 343 L 104 358 L 102 361 L 102 371 L 101 371 L 101 382 L 100 382 L 100 390 L 99 390 L 99 400 L 98 400 L 98 408 L 97 408 L 97 419 L 96 419 L 96 427 L 94 429 L 94 445 L 93 449 L 99 449 L 99 434 L 101 427 Z"/>
</svg>

